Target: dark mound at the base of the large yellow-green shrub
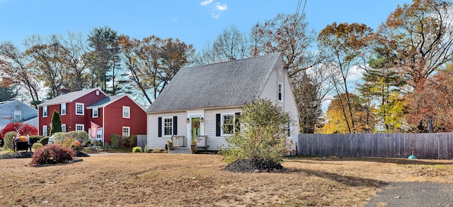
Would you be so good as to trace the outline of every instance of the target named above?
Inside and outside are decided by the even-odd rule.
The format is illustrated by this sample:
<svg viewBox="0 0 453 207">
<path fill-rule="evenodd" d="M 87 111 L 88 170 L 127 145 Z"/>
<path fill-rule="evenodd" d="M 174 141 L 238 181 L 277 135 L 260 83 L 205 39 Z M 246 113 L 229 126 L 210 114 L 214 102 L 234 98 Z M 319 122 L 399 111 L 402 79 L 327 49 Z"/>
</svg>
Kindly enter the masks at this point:
<svg viewBox="0 0 453 207">
<path fill-rule="evenodd" d="M 224 168 L 230 172 L 285 172 L 286 169 L 280 163 L 266 158 L 251 158 L 236 160 Z"/>
</svg>

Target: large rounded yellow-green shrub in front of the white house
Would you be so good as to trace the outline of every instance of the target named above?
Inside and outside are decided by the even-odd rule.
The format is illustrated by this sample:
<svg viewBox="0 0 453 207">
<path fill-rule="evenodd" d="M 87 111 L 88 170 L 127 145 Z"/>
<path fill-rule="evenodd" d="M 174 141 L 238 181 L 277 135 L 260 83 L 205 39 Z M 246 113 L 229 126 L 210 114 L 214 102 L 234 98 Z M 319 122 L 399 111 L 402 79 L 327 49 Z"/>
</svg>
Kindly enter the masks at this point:
<svg viewBox="0 0 453 207">
<path fill-rule="evenodd" d="M 291 124 L 289 114 L 282 107 L 270 100 L 256 99 L 244 105 L 241 116 L 236 120 L 243 127 L 226 138 L 228 148 L 219 149 L 224 161 L 248 158 L 282 161 L 289 145 L 287 131 L 288 124 Z"/>
</svg>

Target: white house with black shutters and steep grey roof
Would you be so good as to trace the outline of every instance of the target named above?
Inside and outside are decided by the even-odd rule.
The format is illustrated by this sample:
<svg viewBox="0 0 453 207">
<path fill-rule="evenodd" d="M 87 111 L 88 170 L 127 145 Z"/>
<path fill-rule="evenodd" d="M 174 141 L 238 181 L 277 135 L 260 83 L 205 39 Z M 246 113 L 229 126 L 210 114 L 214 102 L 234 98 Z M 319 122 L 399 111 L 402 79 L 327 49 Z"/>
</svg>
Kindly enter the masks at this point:
<svg viewBox="0 0 453 207">
<path fill-rule="evenodd" d="M 164 148 L 173 139 L 173 147 L 189 148 L 192 138 L 200 138 L 197 147 L 224 148 L 241 107 L 256 97 L 289 112 L 294 121 L 289 138 L 296 143 L 299 114 L 278 53 L 180 69 L 147 109 L 147 145 Z"/>
</svg>

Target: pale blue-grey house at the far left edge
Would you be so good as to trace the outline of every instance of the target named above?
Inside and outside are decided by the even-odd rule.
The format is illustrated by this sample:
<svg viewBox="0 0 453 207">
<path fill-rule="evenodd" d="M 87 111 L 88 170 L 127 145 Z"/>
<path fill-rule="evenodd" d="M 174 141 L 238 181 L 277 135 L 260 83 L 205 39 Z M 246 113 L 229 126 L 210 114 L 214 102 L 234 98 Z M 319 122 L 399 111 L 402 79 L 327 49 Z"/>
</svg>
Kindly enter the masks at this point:
<svg viewBox="0 0 453 207">
<path fill-rule="evenodd" d="M 0 102 L 0 130 L 11 122 L 21 122 L 38 128 L 38 110 L 20 100 Z"/>
</svg>

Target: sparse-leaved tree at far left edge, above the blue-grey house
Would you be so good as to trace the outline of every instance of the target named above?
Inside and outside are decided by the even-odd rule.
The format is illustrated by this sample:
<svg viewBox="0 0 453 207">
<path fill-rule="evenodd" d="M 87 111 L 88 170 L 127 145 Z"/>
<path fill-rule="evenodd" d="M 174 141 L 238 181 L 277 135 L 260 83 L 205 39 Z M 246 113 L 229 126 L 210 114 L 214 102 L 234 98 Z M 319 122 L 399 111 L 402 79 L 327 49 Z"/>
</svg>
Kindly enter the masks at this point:
<svg viewBox="0 0 453 207">
<path fill-rule="evenodd" d="M 38 108 L 40 100 L 40 84 L 38 72 L 29 65 L 30 61 L 23 52 L 12 42 L 0 43 L 0 73 L 1 76 L 11 80 L 13 84 L 25 88 L 25 93 L 31 99 L 30 104 Z"/>
</svg>

